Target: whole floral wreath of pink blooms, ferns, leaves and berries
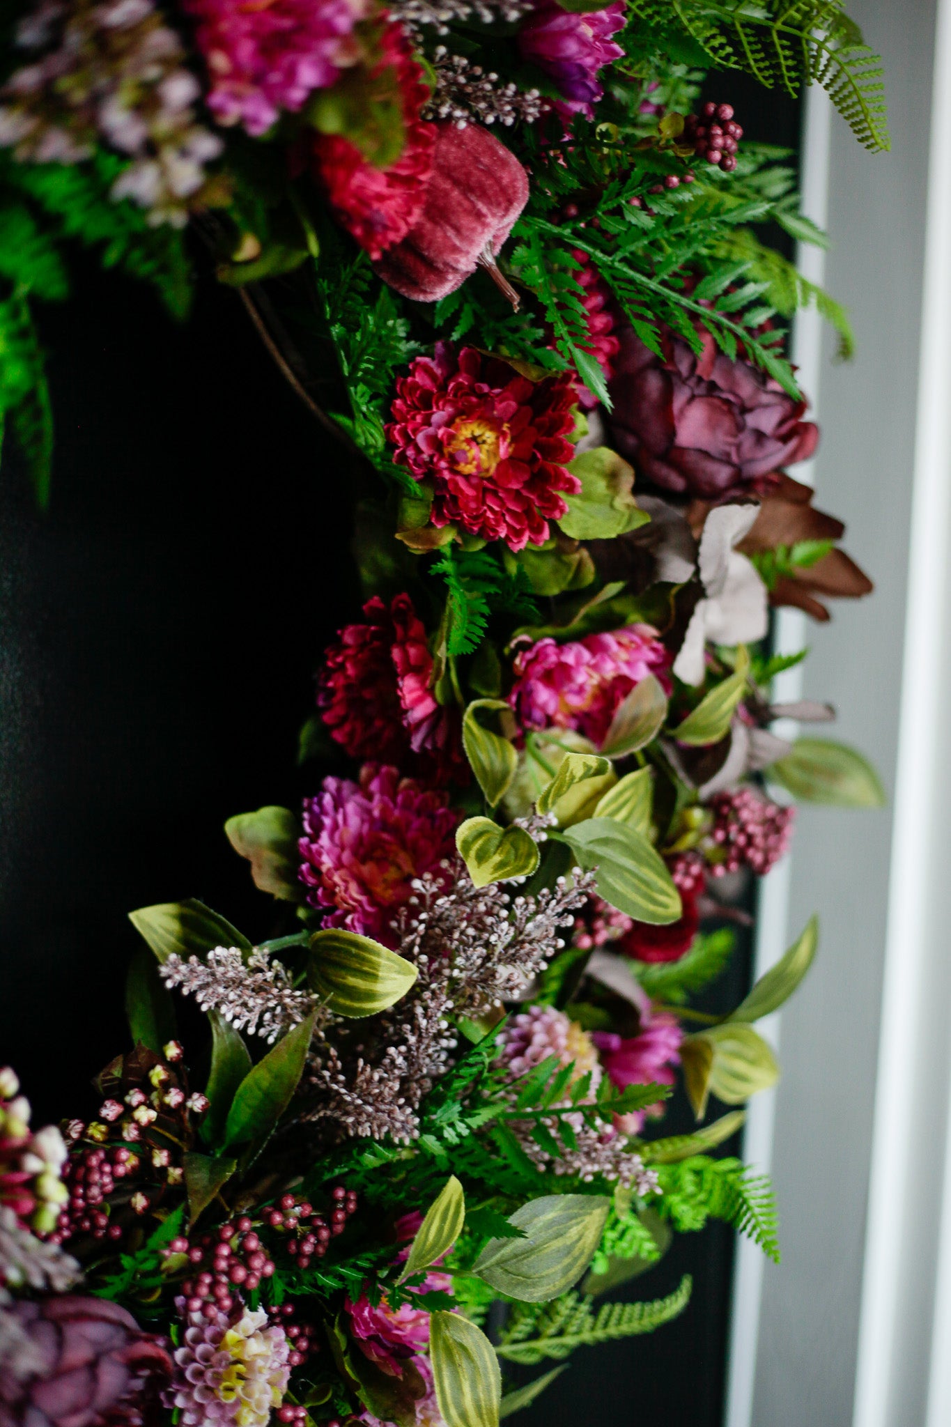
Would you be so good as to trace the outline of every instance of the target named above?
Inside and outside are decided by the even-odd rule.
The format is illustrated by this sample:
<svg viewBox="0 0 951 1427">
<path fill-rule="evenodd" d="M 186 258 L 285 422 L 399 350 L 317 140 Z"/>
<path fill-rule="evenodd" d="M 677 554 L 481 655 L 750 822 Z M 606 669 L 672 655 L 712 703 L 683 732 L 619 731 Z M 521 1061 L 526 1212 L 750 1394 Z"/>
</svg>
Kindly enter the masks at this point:
<svg viewBox="0 0 951 1427">
<path fill-rule="evenodd" d="M 778 1256 L 768 1180 L 714 1152 L 816 919 L 706 995 L 793 802 L 883 802 L 770 692 L 804 656 L 770 608 L 871 584 L 786 471 L 817 428 L 784 324 L 851 334 L 766 225 L 823 234 L 701 87 L 820 83 L 884 148 L 881 68 L 838 0 L 11 9 L 0 414 L 40 505 L 70 250 L 175 315 L 211 267 L 351 452 L 365 604 L 314 795 L 225 825 L 271 935 L 133 912 L 98 1099 L 34 1132 L 0 1072 L 0 1424 L 496 1427 L 684 1309 L 689 1277 L 599 1301 L 673 1233 Z"/>
</svg>

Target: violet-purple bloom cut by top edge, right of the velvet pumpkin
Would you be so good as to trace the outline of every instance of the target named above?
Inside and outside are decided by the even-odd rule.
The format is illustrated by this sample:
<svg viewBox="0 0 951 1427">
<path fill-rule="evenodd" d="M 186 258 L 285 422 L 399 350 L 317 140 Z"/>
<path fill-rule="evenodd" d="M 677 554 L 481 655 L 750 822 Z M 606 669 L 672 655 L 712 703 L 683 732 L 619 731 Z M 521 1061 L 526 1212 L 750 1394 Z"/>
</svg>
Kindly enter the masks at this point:
<svg viewBox="0 0 951 1427">
<path fill-rule="evenodd" d="M 525 59 L 557 84 L 563 97 L 555 107 L 563 117 L 595 117 L 593 106 L 605 93 L 597 71 L 624 53 L 612 40 L 623 26 L 624 0 L 585 14 L 569 14 L 555 0 L 543 0 L 519 30 L 519 50 Z"/>
</svg>

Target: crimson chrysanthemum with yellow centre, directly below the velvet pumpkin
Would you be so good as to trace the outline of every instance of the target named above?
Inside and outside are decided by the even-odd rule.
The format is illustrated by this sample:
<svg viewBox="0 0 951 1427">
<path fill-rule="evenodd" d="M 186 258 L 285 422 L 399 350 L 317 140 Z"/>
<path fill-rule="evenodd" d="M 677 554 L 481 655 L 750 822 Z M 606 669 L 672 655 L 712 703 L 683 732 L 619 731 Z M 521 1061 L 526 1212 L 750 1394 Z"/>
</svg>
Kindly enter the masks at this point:
<svg viewBox="0 0 951 1427">
<path fill-rule="evenodd" d="M 523 549 L 566 514 L 562 492 L 580 491 L 566 469 L 576 400 L 567 372 L 529 381 L 498 357 L 438 342 L 396 382 L 386 438 L 398 465 L 432 482 L 433 525 Z"/>
</svg>

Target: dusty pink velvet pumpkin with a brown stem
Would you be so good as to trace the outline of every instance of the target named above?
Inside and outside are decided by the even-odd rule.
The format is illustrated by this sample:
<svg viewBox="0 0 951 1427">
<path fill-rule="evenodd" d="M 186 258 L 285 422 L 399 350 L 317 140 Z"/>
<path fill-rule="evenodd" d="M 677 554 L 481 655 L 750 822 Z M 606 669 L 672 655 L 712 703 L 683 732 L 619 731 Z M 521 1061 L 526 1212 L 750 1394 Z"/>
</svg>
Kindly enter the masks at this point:
<svg viewBox="0 0 951 1427">
<path fill-rule="evenodd" d="M 528 174 L 486 128 L 435 127 L 439 133 L 422 214 L 406 237 L 374 263 L 374 271 L 403 297 L 435 303 L 482 265 L 518 307 L 495 255 L 528 201 Z"/>
</svg>

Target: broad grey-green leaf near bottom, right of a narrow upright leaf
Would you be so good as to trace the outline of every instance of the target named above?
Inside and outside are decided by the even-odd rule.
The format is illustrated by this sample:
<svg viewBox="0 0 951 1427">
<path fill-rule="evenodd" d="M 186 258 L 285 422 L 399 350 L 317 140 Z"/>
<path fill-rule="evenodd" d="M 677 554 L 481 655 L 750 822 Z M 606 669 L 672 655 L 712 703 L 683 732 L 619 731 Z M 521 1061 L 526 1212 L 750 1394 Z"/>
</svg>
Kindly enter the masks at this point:
<svg viewBox="0 0 951 1427">
<path fill-rule="evenodd" d="M 509 1223 L 523 1239 L 490 1239 L 472 1271 L 520 1303 L 546 1303 L 577 1283 L 595 1256 L 610 1200 L 600 1194 L 545 1194 Z"/>
</svg>

